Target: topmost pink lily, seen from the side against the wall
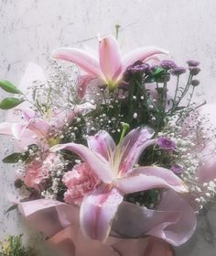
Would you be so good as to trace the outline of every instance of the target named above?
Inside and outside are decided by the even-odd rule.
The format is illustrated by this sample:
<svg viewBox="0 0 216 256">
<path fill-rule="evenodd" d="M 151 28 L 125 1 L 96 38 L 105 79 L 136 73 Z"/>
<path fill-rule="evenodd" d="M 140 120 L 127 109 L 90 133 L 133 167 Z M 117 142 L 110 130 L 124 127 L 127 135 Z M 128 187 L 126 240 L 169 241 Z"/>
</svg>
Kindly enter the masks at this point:
<svg viewBox="0 0 216 256">
<path fill-rule="evenodd" d="M 110 90 L 113 90 L 123 80 L 127 67 L 135 61 L 147 61 L 159 53 L 167 54 L 167 50 L 149 46 L 137 48 L 121 56 L 118 43 L 112 35 L 99 40 L 98 51 L 99 57 L 76 48 L 59 48 L 52 53 L 52 58 L 71 61 L 87 73 L 81 75 L 79 80 L 78 95 L 80 97 L 85 95 L 87 86 L 95 78 L 99 78 L 108 85 Z"/>
</svg>

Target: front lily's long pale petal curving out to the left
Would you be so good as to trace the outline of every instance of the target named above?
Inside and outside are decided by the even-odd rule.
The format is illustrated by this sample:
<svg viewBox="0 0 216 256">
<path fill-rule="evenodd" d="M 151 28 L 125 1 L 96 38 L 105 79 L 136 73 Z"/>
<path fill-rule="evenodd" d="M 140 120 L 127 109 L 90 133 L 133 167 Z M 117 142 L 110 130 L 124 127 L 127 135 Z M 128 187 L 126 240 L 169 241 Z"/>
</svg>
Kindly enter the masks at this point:
<svg viewBox="0 0 216 256">
<path fill-rule="evenodd" d="M 105 184 L 111 184 L 113 181 L 112 173 L 108 162 L 100 157 L 99 155 L 89 150 L 87 147 L 76 144 L 76 143 L 67 143 L 67 144 L 59 144 L 52 147 L 51 151 L 57 150 L 71 150 L 77 155 L 81 157 L 83 161 L 86 161 L 89 166 L 92 168 L 92 171 L 98 175 L 98 177 L 103 181 Z"/>
</svg>

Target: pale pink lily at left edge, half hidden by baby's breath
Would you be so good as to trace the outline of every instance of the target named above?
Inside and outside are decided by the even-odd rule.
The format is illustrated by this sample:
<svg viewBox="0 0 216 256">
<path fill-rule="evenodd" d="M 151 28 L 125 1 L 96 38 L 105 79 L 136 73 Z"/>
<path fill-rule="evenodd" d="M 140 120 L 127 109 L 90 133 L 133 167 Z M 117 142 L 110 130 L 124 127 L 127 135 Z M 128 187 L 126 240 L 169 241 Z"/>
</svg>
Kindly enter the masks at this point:
<svg viewBox="0 0 216 256">
<path fill-rule="evenodd" d="M 71 122 L 71 120 L 83 111 L 90 111 L 94 109 L 94 106 L 90 103 L 84 103 L 81 105 L 74 106 L 74 109 L 69 111 L 60 111 L 59 113 L 54 113 L 52 117 L 38 117 L 37 113 L 29 108 L 16 109 L 21 112 L 20 121 L 13 122 L 3 122 L 0 124 L 0 134 L 13 136 L 18 147 L 21 149 L 27 147 L 30 144 L 38 144 L 43 148 L 52 147 L 59 143 L 58 138 L 50 136 L 50 131 L 56 128 L 57 131 L 62 128 L 66 120 Z"/>
</svg>

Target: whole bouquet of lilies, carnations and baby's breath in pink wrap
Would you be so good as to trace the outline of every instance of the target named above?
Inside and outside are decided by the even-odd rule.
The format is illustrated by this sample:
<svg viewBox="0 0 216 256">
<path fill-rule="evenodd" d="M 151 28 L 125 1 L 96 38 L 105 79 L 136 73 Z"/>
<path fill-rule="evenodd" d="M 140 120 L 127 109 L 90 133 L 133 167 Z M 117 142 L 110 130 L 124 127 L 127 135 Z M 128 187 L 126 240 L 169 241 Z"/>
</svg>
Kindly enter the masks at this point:
<svg viewBox="0 0 216 256">
<path fill-rule="evenodd" d="M 195 102 L 200 63 L 167 54 L 108 35 L 0 81 L 16 206 L 66 255 L 175 255 L 214 197 L 216 106 Z"/>
</svg>

